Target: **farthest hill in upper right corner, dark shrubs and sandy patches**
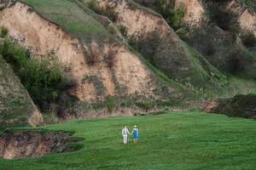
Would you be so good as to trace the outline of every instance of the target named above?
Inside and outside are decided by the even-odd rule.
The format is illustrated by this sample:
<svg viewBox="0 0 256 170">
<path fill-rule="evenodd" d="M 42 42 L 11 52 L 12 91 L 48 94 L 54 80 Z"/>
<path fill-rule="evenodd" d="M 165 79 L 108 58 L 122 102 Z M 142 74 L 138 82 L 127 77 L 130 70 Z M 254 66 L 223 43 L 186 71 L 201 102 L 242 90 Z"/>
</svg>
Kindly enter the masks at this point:
<svg viewBox="0 0 256 170">
<path fill-rule="evenodd" d="M 183 40 L 203 54 L 219 71 L 227 75 L 255 79 L 255 54 L 248 53 L 247 47 L 244 47 L 239 39 L 239 34 L 243 34 L 240 27 L 253 31 L 255 20 L 253 13 L 242 7 L 240 2 L 211 0 L 138 2 L 164 16 L 167 12 L 166 20 L 170 20 L 170 17 L 171 20 L 175 20 L 175 17 L 183 17 L 183 24 L 177 27 L 177 32 L 183 30 Z M 236 10 L 236 13 L 230 8 Z M 172 12 L 168 13 L 168 11 Z M 241 14 L 238 14 L 238 11 Z M 173 25 L 172 22 L 169 23 Z"/>
</svg>

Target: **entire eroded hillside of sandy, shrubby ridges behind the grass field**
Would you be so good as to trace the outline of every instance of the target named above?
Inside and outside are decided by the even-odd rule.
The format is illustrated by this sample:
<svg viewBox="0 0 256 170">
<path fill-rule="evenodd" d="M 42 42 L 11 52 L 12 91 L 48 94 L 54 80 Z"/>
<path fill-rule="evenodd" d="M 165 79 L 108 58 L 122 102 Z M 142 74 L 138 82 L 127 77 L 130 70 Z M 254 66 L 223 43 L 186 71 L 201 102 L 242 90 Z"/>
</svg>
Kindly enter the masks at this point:
<svg viewBox="0 0 256 170">
<path fill-rule="evenodd" d="M 3 59 L 12 66 L 43 112 L 64 119 L 132 115 L 173 105 L 188 108 L 198 99 L 253 91 L 232 88 L 237 77 L 244 80 L 242 84 L 251 81 L 249 84 L 254 87 L 253 3 L 239 0 L 0 3 L 1 35 L 4 32 L 7 35 L 1 36 L 1 42 L 11 44 L 11 48 L 3 43 L 0 46 Z M 22 53 L 19 50 L 16 54 L 5 53 L 16 46 L 22 47 Z M 20 60 L 16 55 L 22 55 Z M 31 69 L 26 74 L 22 62 Z M 39 70 L 41 76 L 35 74 L 32 82 L 26 81 L 32 77 L 32 71 Z M 38 81 L 36 77 L 40 77 Z M 40 98 L 44 92 L 47 97 Z"/>
</svg>

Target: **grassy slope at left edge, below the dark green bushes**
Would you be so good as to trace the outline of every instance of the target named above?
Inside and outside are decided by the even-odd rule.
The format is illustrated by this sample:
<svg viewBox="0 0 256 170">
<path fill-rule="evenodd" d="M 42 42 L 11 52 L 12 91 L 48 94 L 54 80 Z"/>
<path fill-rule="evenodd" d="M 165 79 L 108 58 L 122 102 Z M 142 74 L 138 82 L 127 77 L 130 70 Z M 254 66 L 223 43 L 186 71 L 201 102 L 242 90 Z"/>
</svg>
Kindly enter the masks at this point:
<svg viewBox="0 0 256 170">
<path fill-rule="evenodd" d="M 26 88 L 0 55 L 0 129 L 27 125 L 28 117 L 36 108 Z"/>
</svg>

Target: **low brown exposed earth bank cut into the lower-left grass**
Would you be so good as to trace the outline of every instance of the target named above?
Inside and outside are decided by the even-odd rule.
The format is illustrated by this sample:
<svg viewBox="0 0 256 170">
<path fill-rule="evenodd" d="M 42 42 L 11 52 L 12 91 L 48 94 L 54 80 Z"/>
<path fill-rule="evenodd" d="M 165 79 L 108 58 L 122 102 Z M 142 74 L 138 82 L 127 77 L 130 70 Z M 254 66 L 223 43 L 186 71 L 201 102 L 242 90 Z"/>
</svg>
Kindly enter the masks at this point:
<svg viewBox="0 0 256 170">
<path fill-rule="evenodd" d="M 70 138 L 71 132 L 39 130 L 5 131 L 0 137 L 0 157 L 4 159 L 44 156 L 81 149 L 80 139 Z"/>
</svg>

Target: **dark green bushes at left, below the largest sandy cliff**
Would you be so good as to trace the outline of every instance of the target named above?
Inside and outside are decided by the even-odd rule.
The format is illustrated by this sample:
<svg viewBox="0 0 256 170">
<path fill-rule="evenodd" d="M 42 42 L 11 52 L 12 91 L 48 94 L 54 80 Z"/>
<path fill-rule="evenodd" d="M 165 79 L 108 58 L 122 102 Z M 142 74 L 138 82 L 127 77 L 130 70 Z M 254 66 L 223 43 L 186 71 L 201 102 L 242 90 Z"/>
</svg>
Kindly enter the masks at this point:
<svg viewBox="0 0 256 170">
<path fill-rule="evenodd" d="M 20 82 L 31 95 L 34 103 L 42 111 L 48 111 L 49 105 L 56 103 L 66 88 L 67 79 L 56 62 L 46 59 L 32 59 L 26 49 L 5 39 L 0 45 L 0 54 L 13 66 Z"/>
</svg>

